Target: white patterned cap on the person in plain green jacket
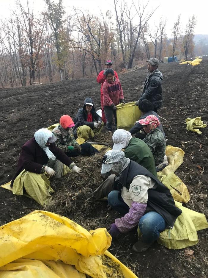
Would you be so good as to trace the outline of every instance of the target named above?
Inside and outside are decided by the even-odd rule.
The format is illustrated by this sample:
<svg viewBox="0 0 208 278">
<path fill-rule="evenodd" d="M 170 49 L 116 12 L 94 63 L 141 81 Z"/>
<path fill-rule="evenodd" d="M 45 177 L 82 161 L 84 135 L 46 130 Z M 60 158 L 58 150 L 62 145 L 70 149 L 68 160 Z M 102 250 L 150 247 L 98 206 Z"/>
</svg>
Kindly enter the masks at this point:
<svg viewBox="0 0 208 278">
<path fill-rule="evenodd" d="M 132 136 L 129 131 L 126 131 L 125 129 L 117 129 L 112 137 L 114 143 L 113 150 L 121 150 L 126 148 L 131 138 Z"/>
</svg>

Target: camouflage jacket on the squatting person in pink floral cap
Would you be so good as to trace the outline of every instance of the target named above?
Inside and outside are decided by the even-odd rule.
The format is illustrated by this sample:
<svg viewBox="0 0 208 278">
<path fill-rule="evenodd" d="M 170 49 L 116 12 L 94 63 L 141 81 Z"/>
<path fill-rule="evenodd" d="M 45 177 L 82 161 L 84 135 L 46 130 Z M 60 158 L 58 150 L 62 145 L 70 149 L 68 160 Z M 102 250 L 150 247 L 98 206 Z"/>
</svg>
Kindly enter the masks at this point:
<svg viewBox="0 0 208 278">
<path fill-rule="evenodd" d="M 143 141 L 149 146 L 155 160 L 155 165 L 157 166 L 162 163 L 166 153 L 166 140 L 163 132 L 156 127 L 146 135 Z"/>
</svg>

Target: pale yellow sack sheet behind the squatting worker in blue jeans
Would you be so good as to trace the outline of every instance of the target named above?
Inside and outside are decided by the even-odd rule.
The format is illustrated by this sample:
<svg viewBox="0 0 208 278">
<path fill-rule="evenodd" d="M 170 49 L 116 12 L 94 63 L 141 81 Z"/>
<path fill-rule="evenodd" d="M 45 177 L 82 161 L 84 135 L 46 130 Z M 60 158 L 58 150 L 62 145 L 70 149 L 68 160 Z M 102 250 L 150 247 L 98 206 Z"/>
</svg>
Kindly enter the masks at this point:
<svg viewBox="0 0 208 278">
<path fill-rule="evenodd" d="M 175 204 L 182 210 L 182 214 L 176 219 L 173 229 L 167 229 L 160 234 L 158 242 L 169 249 L 181 249 L 197 244 L 197 231 L 208 228 L 205 215 L 182 207 L 179 202 Z"/>
</svg>

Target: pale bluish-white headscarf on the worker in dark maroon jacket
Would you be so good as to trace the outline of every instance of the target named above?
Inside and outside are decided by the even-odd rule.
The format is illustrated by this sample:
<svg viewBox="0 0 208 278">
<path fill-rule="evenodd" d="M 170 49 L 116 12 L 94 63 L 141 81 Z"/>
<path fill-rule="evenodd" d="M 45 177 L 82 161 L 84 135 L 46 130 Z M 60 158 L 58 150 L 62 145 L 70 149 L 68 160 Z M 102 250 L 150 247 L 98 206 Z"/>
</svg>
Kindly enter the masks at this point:
<svg viewBox="0 0 208 278">
<path fill-rule="evenodd" d="M 56 159 L 55 155 L 50 151 L 48 147 L 45 146 L 45 144 L 48 141 L 48 138 L 50 138 L 51 136 L 53 136 L 53 133 L 46 128 L 41 128 L 37 130 L 34 134 L 35 141 L 43 149 L 47 157 L 49 159 L 55 160 Z"/>
</svg>

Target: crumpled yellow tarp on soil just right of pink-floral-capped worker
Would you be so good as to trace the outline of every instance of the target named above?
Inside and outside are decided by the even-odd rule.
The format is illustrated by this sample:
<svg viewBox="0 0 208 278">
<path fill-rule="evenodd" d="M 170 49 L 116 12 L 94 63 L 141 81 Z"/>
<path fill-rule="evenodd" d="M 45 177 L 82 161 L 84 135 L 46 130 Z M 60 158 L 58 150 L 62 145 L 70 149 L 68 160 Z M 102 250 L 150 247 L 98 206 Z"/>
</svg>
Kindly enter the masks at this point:
<svg viewBox="0 0 208 278">
<path fill-rule="evenodd" d="M 184 151 L 180 148 L 167 146 L 166 155 L 169 165 L 162 171 L 157 172 L 157 178 L 170 189 L 175 201 L 187 203 L 190 200 L 190 195 L 186 185 L 174 172 L 183 162 Z"/>
</svg>

